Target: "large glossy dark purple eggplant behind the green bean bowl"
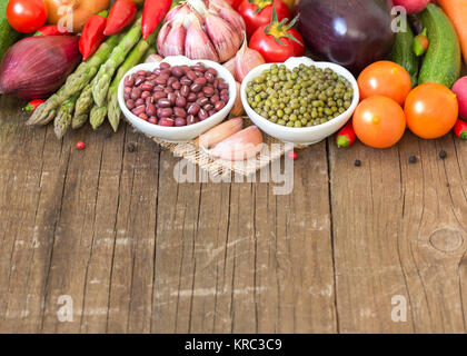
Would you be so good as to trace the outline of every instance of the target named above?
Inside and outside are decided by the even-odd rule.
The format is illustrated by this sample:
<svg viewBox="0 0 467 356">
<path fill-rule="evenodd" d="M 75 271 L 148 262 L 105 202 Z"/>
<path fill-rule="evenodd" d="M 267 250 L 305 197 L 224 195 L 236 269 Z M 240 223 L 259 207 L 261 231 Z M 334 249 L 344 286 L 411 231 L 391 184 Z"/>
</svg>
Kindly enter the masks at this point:
<svg viewBox="0 0 467 356">
<path fill-rule="evenodd" d="M 391 0 L 300 0 L 297 28 L 319 58 L 358 75 L 391 50 Z"/>
</svg>

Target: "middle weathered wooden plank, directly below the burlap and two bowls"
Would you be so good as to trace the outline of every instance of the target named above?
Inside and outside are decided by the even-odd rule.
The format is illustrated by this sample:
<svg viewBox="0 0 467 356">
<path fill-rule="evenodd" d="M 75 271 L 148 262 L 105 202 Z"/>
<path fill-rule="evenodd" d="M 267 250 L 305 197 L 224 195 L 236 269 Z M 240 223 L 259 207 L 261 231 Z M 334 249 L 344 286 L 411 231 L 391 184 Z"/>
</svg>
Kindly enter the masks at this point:
<svg viewBox="0 0 467 356">
<path fill-rule="evenodd" d="M 152 332 L 336 332 L 325 144 L 302 157 L 279 197 L 272 184 L 177 185 L 162 152 Z"/>
</svg>

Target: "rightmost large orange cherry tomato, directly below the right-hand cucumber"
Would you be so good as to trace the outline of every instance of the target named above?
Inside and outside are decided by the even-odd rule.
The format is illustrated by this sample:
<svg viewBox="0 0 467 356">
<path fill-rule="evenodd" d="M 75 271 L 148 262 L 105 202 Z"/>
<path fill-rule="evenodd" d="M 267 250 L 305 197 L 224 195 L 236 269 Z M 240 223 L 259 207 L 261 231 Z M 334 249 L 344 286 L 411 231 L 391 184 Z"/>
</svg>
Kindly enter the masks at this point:
<svg viewBox="0 0 467 356">
<path fill-rule="evenodd" d="M 425 139 L 445 136 L 456 125 L 459 113 L 456 95 L 438 83 L 418 86 L 406 100 L 407 126 Z"/>
</svg>

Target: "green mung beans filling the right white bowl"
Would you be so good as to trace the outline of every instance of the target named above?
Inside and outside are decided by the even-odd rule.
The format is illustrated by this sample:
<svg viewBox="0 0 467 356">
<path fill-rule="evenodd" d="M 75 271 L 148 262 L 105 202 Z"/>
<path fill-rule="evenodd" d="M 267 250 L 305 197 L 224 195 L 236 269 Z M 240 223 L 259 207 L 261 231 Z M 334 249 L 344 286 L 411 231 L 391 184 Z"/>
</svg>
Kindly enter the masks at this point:
<svg viewBox="0 0 467 356">
<path fill-rule="evenodd" d="M 351 105 L 350 82 L 331 69 L 300 65 L 292 70 L 272 65 L 247 85 L 251 108 L 271 122 L 287 127 L 325 123 Z"/>
</svg>

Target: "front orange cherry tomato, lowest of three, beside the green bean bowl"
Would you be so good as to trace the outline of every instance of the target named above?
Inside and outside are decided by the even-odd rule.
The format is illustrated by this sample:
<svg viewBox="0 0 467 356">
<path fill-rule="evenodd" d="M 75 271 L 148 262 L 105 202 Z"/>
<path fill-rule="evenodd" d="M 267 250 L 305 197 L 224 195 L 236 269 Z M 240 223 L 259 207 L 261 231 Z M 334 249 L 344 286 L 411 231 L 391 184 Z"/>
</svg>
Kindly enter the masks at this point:
<svg viewBox="0 0 467 356">
<path fill-rule="evenodd" d="M 396 145 L 406 130 L 403 108 L 393 99 L 381 96 L 361 101 L 355 110 L 352 122 L 358 139 L 374 148 Z"/>
</svg>

